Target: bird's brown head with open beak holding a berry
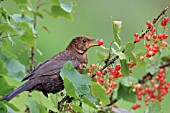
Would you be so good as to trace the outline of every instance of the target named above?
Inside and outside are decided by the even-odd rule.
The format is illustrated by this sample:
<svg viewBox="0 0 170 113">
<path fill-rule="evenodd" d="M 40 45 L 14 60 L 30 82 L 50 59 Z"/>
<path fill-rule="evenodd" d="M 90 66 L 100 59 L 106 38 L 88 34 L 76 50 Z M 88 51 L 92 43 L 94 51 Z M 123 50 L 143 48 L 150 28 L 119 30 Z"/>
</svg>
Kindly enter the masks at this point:
<svg viewBox="0 0 170 113">
<path fill-rule="evenodd" d="M 79 54 L 85 53 L 90 47 L 100 46 L 98 43 L 93 42 L 99 39 L 93 39 L 88 36 L 78 36 L 74 38 L 67 47 L 67 50 L 75 50 Z"/>
</svg>

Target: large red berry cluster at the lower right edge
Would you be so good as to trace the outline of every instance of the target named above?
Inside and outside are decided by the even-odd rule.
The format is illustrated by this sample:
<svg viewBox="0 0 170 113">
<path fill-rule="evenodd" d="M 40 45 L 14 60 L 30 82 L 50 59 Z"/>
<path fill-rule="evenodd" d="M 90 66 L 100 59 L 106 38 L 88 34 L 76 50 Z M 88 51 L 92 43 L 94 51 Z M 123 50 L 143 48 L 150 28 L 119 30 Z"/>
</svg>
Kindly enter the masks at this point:
<svg viewBox="0 0 170 113">
<path fill-rule="evenodd" d="M 136 92 L 137 99 L 141 101 L 143 98 L 143 101 L 146 103 L 146 105 L 148 105 L 150 101 L 155 102 L 158 100 L 161 102 L 163 96 L 169 92 L 170 88 L 170 82 L 167 82 L 165 77 L 165 69 L 161 68 L 154 79 L 150 80 L 151 78 L 148 76 L 147 79 L 150 80 L 150 82 L 143 86 L 141 84 L 134 85 L 133 91 Z M 137 105 L 134 105 L 132 109 L 136 110 L 138 108 L 136 106 Z"/>
</svg>

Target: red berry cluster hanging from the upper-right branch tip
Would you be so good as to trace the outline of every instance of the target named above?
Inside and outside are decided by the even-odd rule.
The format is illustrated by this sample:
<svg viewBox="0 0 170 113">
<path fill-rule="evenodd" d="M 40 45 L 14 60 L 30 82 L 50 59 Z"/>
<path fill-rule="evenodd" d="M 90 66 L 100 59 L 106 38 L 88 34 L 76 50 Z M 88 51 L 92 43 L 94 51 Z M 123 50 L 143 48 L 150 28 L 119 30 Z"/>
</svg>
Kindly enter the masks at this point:
<svg viewBox="0 0 170 113">
<path fill-rule="evenodd" d="M 169 21 L 168 17 L 165 17 L 162 22 L 161 25 L 163 27 L 165 27 L 167 25 Z M 160 34 L 156 34 L 156 27 L 153 23 L 150 23 L 149 21 L 146 22 L 146 25 L 148 26 L 148 32 L 147 34 L 142 35 L 142 37 L 139 36 L 138 33 L 134 34 L 135 37 L 135 43 L 139 43 L 142 39 L 144 39 L 145 43 L 145 47 L 146 47 L 146 54 L 145 57 L 146 58 L 150 58 L 152 56 L 154 56 L 160 48 L 165 48 L 167 46 L 167 43 L 165 42 L 165 39 L 168 38 L 168 34 L 167 33 L 160 33 Z M 144 56 L 140 57 L 141 60 L 144 60 Z"/>
</svg>

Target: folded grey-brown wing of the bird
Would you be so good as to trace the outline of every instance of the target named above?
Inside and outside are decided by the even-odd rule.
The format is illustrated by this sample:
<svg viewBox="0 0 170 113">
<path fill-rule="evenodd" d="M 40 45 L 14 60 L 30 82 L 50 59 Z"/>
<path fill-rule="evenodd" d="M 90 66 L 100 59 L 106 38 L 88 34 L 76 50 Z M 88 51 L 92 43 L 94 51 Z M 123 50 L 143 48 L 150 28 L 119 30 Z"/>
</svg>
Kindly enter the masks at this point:
<svg viewBox="0 0 170 113">
<path fill-rule="evenodd" d="M 27 79 L 33 79 L 39 76 L 50 76 L 59 74 L 60 70 L 67 61 L 71 61 L 72 65 L 75 68 L 78 68 L 80 62 L 78 62 L 76 59 L 71 58 L 72 57 L 70 57 L 69 54 L 66 54 L 63 57 L 52 57 L 51 59 L 38 65 L 33 71 L 30 72 L 28 76 L 24 77 L 22 81 L 25 81 Z"/>
</svg>

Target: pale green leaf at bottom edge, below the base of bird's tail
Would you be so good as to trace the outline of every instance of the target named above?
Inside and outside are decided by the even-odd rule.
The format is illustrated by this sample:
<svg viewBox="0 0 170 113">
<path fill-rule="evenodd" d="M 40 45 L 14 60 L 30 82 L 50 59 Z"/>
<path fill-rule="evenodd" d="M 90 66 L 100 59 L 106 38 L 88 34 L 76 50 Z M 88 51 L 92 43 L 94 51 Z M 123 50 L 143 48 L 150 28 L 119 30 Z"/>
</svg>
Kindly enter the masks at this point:
<svg viewBox="0 0 170 113">
<path fill-rule="evenodd" d="M 31 97 L 27 100 L 27 105 L 31 113 L 41 113 L 38 103 L 33 100 Z"/>
</svg>

